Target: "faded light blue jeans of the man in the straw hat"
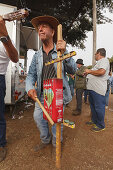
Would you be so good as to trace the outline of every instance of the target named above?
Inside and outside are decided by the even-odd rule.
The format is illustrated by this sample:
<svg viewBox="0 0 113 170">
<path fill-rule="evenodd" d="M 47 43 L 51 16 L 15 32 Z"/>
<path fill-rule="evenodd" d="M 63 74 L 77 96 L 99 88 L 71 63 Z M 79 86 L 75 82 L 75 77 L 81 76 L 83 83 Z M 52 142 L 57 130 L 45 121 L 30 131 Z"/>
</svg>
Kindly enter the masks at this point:
<svg viewBox="0 0 113 170">
<path fill-rule="evenodd" d="M 40 102 L 44 105 L 43 95 L 40 98 Z M 40 131 L 41 142 L 48 144 L 51 141 L 51 134 L 49 132 L 48 121 L 43 119 L 43 111 L 37 102 L 35 103 L 34 120 Z M 63 140 L 62 132 L 63 124 L 61 124 L 61 142 Z M 56 146 L 56 124 L 52 126 L 52 144 L 53 146 Z"/>
</svg>

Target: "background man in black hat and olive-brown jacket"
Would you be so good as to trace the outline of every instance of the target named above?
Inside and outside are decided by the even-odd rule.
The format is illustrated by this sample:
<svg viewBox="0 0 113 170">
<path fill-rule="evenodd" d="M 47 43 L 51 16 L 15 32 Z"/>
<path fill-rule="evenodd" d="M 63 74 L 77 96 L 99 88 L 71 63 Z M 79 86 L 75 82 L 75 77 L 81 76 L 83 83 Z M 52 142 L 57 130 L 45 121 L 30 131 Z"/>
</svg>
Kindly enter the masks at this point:
<svg viewBox="0 0 113 170">
<path fill-rule="evenodd" d="M 84 76 L 84 70 L 86 67 L 83 64 L 82 59 L 76 61 L 78 70 L 76 71 L 75 77 L 75 89 L 76 89 L 76 109 L 73 110 L 72 115 L 77 116 L 81 114 L 82 110 L 82 96 L 84 89 L 86 89 L 86 77 Z"/>
</svg>

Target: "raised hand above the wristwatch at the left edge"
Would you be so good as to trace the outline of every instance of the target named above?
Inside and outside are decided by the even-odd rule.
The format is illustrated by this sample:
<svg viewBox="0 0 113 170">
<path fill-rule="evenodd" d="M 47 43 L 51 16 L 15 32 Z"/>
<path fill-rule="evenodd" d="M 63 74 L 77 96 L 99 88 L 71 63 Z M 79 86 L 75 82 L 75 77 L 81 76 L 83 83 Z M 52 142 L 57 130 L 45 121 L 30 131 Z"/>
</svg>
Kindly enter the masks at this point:
<svg viewBox="0 0 113 170">
<path fill-rule="evenodd" d="M 0 37 L 2 36 L 7 36 L 8 35 L 8 32 L 7 32 L 7 29 L 6 29 L 6 26 L 5 26 L 5 22 L 2 18 L 2 16 L 0 16 Z"/>
</svg>

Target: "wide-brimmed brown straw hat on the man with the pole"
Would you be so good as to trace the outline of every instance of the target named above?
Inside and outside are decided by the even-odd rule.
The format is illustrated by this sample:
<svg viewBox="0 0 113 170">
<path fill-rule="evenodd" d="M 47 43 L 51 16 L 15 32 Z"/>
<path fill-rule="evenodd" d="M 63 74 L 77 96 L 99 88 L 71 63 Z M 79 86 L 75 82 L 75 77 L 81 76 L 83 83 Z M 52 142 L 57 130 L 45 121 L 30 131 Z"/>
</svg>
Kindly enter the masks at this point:
<svg viewBox="0 0 113 170">
<path fill-rule="evenodd" d="M 41 23 L 41 22 L 46 22 L 48 23 L 54 30 L 55 30 L 55 34 L 54 34 L 54 37 L 53 37 L 53 41 L 54 42 L 57 42 L 57 26 L 59 25 L 59 21 L 55 18 L 55 17 L 52 17 L 52 16 L 48 16 L 48 15 L 45 15 L 45 16 L 39 16 L 39 17 L 35 17 L 31 20 L 31 23 L 32 25 L 34 26 L 34 28 L 38 31 L 38 25 Z"/>
</svg>

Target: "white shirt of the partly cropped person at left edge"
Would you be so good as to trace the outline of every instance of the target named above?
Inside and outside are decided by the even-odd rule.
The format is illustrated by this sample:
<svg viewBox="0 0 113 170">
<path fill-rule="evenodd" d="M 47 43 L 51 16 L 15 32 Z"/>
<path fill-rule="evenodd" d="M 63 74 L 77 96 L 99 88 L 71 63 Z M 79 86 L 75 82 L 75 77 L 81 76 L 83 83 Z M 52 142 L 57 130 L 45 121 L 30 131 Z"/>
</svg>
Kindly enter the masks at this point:
<svg viewBox="0 0 113 170">
<path fill-rule="evenodd" d="M 10 58 L 7 55 L 3 43 L 0 41 L 0 74 L 5 75 Z"/>
</svg>

